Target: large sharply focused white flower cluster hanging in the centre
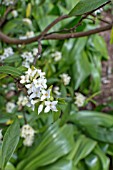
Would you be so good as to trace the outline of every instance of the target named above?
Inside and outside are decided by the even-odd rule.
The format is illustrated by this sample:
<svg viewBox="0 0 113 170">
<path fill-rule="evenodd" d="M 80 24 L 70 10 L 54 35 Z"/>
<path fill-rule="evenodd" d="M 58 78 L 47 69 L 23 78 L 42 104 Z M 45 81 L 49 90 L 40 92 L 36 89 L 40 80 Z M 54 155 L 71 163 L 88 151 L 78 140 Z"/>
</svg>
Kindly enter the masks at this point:
<svg viewBox="0 0 113 170">
<path fill-rule="evenodd" d="M 38 103 L 38 114 L 40 114 L 45 106 L 44 112 L 47 113 L 50 110 L 57 111 L 56 105 L 58 101 L 53 101 L 51 96 L 51 88 L 47 89 L 47 79 L 45 78 L 45 72 L 35 67 L 29 68 L 25 75 L 21 76 L 21 84 L 24 84 L 27 88 L 28 103 L 27 106 L 32 110 L 35 108 L 35 104 Z"/>
</svg>

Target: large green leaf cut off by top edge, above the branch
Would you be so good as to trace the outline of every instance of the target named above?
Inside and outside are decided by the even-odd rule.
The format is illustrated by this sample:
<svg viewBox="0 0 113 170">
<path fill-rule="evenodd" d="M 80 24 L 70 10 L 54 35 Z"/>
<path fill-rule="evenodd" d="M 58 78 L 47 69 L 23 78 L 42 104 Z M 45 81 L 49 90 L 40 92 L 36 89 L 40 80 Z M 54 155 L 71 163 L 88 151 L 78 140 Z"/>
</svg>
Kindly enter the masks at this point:
<svg viewBox="0 0 113 170">
<path fill-rule="evenodd" d="M 103 5 L 104 3 L 108 2 L 108 0 L 79 0 L 79 2 L 75 5 L 75 7 L 71 10 L 69 15 L 82 15 L 84 13 L 93 11 Z"/>
</svg>

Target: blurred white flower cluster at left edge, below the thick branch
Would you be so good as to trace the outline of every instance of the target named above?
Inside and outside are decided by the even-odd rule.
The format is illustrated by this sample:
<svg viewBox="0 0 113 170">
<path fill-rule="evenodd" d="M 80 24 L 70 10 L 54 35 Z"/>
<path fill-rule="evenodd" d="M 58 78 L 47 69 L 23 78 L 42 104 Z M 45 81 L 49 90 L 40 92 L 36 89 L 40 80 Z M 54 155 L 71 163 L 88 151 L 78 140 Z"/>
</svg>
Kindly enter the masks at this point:
<svg viewBox="0 0 113 170">
<path fill-rule="evenodd" d="M 0 61 L 4 61 L 6 58 L 12 56 L 14 54 L 13 49 L 11 47 L 5 48 L 4 53 L 0 55 Z"/>
</svg>

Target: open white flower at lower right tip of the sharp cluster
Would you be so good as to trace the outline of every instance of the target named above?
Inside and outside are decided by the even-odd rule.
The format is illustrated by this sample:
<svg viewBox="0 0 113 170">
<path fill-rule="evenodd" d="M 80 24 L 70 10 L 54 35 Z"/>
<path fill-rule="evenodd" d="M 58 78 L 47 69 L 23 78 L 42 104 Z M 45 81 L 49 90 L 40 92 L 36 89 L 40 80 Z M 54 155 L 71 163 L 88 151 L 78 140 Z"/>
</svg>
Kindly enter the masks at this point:
<svg viewBox="0 0 113 170">
<path fill-rule="evenodd" d="M 57 112 L 58 111 L 56 108 L 57 103 L 58 103 L 58 101 L 53 101 L 53 102 L 45 101 L 46 108 L 44 109 L 44 112 L 47 113 L 50 110 Z"/>
</svg>

